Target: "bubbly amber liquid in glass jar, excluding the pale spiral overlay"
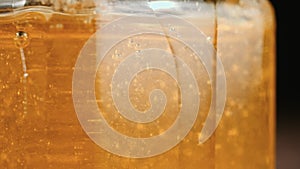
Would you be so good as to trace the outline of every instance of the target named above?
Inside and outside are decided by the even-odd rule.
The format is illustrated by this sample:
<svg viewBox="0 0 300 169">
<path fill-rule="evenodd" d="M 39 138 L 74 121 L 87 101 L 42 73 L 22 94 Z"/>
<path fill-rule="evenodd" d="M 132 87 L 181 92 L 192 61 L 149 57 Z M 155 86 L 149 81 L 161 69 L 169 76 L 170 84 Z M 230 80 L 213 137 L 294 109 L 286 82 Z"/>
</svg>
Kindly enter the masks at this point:
<svg viewBox="0 0 300 169">
<path fill-rule="evenodd" d="M 98 70 L 96 97 L 102 99 L 98 105 L 103 116 L 117 131 L 132 137 L 150 137 L 168 128 L 180 108 L 180 92 L 165 73 L 142 72 L 129 89 L 133 106 L 148 109 L 149 92 L 160 88 L 169 101 L 164 115 L 149 124 L 121 118 L 106 91 L 110 91 L 109 80 L 126 52 L 147 48 L 150 41 L 152 47 L 172 48 L 196 72 L 201 107 L 194 127 L 176 147 L 141 159 L 114 155 L 95 144 L 82 129 L 72 100 L 72 75 L 81 49 L 97 29 L 122 14 L 24 11 L 1 16 L 0 168 L 273 169 L 273 15 L 263 11 L 245 19 L 223 15 L 232 10 L 228 6 L 218 6 L 217 13 L 213 5 L 206 7 L 211 14 L 184 18 L 199 26 L 215 44 L 226 73 L 227 102 L 219 127 L 204 144 L 199 144 L 198 138 L 210 106 L 211 84 L 203 64 L 178 41 L 137 36 L 130 43 L 139 45 L 131 44 L 128 51 L 117 53 L 112 49 Z M 16 37 L 20 31 L 28 37 Z M 128 41 L 118 45 L 128 46 Z"/>
</svg>

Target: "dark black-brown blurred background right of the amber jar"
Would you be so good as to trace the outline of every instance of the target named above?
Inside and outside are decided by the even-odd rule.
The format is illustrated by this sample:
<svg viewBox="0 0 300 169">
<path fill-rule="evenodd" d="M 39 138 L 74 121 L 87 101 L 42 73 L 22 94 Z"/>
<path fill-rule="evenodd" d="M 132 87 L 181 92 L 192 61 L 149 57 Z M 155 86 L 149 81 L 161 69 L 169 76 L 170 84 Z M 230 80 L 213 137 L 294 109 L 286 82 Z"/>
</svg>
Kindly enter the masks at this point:
<svg viewBox="0 0 300 169">
<path fill-rule="evenodd" d="M 277 18 L 277 169 L 299 169 L 300 112 L 296 104 L 300 99 L 296 94 L 298 84 L 292 80 L 299 76 L 293 61 L 299 55 L 299 47 L 292 40 L 297 41 L 299 34 L 296 24 L 300 8 L 293 1 L 271 2 Z"/>
</svg>

